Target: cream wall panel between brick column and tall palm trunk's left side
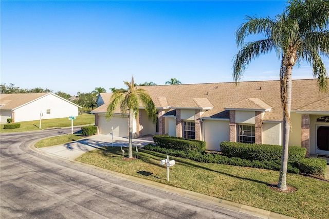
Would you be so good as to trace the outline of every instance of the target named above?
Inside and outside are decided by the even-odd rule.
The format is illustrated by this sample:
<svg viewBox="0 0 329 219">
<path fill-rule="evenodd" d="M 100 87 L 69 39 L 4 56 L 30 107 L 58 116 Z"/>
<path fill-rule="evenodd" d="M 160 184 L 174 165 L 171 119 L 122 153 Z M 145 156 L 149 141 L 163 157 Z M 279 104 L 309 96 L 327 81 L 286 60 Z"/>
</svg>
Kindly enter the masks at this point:
<svg viewBox="0 0 329 219">
<path fill-rule="evenodd" d="M 263 144 L 282 145 L 281 123 L 263 123 Z"/>
</svg>

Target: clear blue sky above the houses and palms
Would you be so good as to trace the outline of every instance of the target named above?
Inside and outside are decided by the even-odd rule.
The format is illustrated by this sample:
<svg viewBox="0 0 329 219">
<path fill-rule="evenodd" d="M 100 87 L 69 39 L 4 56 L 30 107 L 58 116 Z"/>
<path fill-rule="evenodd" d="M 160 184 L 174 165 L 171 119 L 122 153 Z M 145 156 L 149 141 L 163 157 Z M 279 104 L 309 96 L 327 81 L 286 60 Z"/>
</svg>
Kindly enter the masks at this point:
<svg viewBox="0 0 329 219">
<path fill-rule="evenodd" d="M 71 95 L 136 83 L 232 82 L 234 32 L 285 1 L 1 1 L 1 83 Z M 247 41 L 259 39 L 248 38 Z M 323 60 L 328 70 L 329 61 Z M 274 53 L 242 81 L 278 80 Z M 307 63 L 293 79 L 312 78 Z"/>
</svg>

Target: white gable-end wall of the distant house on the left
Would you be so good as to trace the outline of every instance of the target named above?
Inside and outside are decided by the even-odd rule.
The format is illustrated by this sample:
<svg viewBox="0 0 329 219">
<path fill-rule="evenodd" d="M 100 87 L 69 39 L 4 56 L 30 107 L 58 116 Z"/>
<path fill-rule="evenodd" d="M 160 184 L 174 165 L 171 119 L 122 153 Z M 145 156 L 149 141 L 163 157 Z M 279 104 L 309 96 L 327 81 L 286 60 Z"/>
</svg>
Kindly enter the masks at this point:
<svg viewBox="0 0 329 219">
<path fill-rule="evenodd" d="M 47 109 L 50 109 L 50 114 L 47 114 Z M 15 122 L 38 120 L 41 112 L 42 119 L 68 118 L 79 115 L 78 106 L 51 94 L 14 110 Z"/>
</svg>

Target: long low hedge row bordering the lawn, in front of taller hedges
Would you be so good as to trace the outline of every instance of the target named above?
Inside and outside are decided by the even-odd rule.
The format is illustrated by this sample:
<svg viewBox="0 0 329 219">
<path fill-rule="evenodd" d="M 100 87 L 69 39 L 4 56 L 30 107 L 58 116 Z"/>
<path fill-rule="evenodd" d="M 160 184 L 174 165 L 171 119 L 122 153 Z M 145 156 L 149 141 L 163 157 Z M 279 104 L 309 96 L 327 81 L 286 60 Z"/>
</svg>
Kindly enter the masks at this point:
<svg viewBox="0 0 329 219">
<path fill-rule="evenodd" d="M 190 160 L 195 160 L 198 162 L 205 163 L 219 163 L 223 165 L 232 165 L 232 166 L 240 166 L 240 167 L 251 167 L 251 168 L 259 168 L 259 169 L 267 169 L 267 170 L 276 170 L 280 171 L 281 163 L 279 160 L 277 161 L 260 161 L 260 160 L 247 160 L 239 157 L 227 157 L 221 154 L 215 153 L 199 153 L 196 151 L 178 151 L 174 149 L 166 149 L 160 148 L 157 145 L 148 144 L 144 146 L 145 150 L 156 151 L 163 154 L 167 154 L 175 157 L 187 158 Z M 288 163 L 287 167 L 288 173 L 299 174 L 299 169 Z"/>
</svg>

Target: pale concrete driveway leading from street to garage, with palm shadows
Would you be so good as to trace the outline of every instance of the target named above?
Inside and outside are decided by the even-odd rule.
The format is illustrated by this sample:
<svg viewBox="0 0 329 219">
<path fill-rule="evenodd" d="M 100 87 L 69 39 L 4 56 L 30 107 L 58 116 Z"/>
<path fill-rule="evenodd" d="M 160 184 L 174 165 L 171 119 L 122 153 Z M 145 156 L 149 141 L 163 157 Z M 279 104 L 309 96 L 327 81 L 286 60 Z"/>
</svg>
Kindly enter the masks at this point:
<svg viewBox="0 0 329 219">
<path fill-rule="evenodd" d="M 152 136 L 141 137 L 133 139 L 133 147 L 144 147 L 149 143 L 154 143 Z M 129 147 L 128 138 L 113 136 L 114 147 Z M 39 150 L 46 153 L 74 160 L 83 153 L 99 149 L 102 147 L 112 147 L 112 135 L 92 135 L 81 140 L 72 141 L 65 144 L 54 145 L 51 147 L 39 148 Z"/>
</svg>

